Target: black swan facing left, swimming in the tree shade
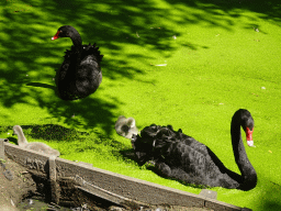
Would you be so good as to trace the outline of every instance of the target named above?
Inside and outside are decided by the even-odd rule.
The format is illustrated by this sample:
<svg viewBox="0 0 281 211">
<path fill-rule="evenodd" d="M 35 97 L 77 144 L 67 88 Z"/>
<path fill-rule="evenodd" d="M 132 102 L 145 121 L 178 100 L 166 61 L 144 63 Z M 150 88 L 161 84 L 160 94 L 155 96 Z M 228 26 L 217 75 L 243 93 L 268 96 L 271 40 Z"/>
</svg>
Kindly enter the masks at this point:
<svg viewBox="0 0 281 211">
<path fill-rule="evenodd" d="M 70 25 L 58 29 L 52 40 L 70 37 L 74 45 L 65 52 L 65 60 L 57 71 L 56 84 L 63 100 L 76 100 L 93 93 L 100 86 L 102 73 L 99 47 L 82 45 L 82 40 L 77 30 Z"/>
</svg>

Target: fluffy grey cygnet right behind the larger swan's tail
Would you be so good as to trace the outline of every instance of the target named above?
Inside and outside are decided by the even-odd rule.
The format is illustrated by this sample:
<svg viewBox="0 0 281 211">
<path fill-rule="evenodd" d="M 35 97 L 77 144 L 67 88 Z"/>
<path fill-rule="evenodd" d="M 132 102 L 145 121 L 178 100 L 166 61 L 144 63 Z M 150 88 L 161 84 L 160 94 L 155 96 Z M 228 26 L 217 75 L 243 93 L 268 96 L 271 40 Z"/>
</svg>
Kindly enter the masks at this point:
<svg viewBox="0 0 281 211">
<path fill-rule="evenodd" d="M 132 140 L 133 134 L 137 135 L 138 133 L 135 119 L 126 119 L 124 115 L 119 116 L 115 123 L 115 131 L 117 132 L 117 134 L 130 140 Z"/>
</svg>

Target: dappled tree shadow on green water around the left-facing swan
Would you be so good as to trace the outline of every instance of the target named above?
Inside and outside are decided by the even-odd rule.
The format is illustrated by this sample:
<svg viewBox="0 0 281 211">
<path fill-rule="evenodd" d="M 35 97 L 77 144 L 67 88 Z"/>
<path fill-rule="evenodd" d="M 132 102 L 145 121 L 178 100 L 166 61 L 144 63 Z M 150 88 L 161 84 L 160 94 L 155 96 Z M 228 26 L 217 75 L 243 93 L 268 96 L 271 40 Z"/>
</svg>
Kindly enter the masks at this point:
<svg viewBox="0 0 281 211">
<path fill-rule="evenodd" d="M 75 103 L 61 101 L 56 95 L 53 81 L 55 69 L 63 63 L 65 49 L 71 45 L 68 38 L 50 41 L 60 25 L 74 25 L 85 43 L 97 43 L 101 54 L 104 54 L 101 64 L 104 81 L 106 78 L 117 80 L 145 76 L 142 69 L 137 66 L 131 67 L 131 64 L 134 60 L 147 64 L 146 60 L 154 58 L 154 54 L 128 53 L 123 45 L 146 46 L 150 52 L 165 52 L 169 57 L 177 46 L 166 42 L 167 37 L 181 35 L 182 32 L 178 29 L 187 23 L 209 23 L 210 26 L 232 30 L 236 23 L 228 20 L 227 15 L 238 18 L 240 13 L 235 12 L 235 9 L 259 12 L 265 19 L 277 19 L 281 11 L 277 10 L 280 3 L 274 0 L 259 3 L 254 0 L 166 0 L 158 3 L 150 0 L 133 0 L 126 3 L 121 0 L 102 3 L 63 0 L 18 3 L 10 0 L 0 5 L 2 106 L 11 108 L 16 102 L 31 104 L 26 100 L 29 97 L 58 121 L 64 118 L 64 123 L 69 126 L 92 129 L 101 124 L 106 134 L 112 134 L 115 120 L 113 111 L 123 102 L 117 98 L 99 99 L 95 93 L 105 87 L 101 85 L 95 93 Z M 204 15 L 199 10 L 204 11 Z M 217 10 L 223 10 L 227 15 L 221 15 Z M 226 21 L 220 22 L 218 19 Z M 58 22 L 54 23 L 55 20 Z M 184 46 L 192 51 L 198 49 L 198 45 L 189 41 Z M 119 68 L 120 66 L 128 66 L 131 74 L 127 74 L 126 68 Z M 145 77 L 142 80 L 149 82 Z M 85 123 L 69 119 L 76 112 Z"/>
</svg>

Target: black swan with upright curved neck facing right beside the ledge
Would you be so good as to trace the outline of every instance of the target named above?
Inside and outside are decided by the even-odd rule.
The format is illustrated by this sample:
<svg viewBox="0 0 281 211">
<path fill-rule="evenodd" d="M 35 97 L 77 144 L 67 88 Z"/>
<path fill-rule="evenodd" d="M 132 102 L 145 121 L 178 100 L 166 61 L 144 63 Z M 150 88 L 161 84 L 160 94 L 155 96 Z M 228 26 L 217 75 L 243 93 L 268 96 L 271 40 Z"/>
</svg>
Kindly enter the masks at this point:
<svg viewBox="0 0 281 211">
<path fill-rule="evenodd" d="M 245 152 L 240 126 L 248 145 L 254 146 L 254 120 L 244 109 L 234 113 L 231 129 L 234 157 L 241 175 L 227 169 L 207 146 L 181 130 L 173 131 L 171 125 L 146 126 L 140 135 L 133 135 L 132 146 L 139 165 L 150 160 L 166 177 L 187 184 L 250 190 L 257 185 L 257 173 Z"/>
</svg>

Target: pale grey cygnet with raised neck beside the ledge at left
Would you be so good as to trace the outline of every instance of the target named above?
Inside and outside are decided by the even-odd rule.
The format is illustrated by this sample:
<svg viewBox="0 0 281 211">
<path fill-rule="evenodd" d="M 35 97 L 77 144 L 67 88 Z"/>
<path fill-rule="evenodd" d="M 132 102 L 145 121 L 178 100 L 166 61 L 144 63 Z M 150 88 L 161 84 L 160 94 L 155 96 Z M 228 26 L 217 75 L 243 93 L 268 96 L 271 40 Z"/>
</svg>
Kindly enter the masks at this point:
<svg viewBox="0 0 281 211">
<path fill-rule="evenodd" d="M 22 148 L 36 151 L 38 153 L 43 153 L 43 154 L 46 154 L 49 156 L 55 155 L 58 157 L 60 155 L 60 153 L 58 151 L 50 148 L 48 145 L 46 145 L 44 143 L 41 143 L 41 142 L 29 143 L 27 140 L 25 138 L 22 127 L 20 125 L 13 126 L 13 133 L 15 135 L 18 135 L 18 144 Z"/>
</svg>

